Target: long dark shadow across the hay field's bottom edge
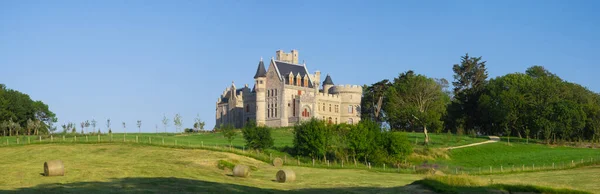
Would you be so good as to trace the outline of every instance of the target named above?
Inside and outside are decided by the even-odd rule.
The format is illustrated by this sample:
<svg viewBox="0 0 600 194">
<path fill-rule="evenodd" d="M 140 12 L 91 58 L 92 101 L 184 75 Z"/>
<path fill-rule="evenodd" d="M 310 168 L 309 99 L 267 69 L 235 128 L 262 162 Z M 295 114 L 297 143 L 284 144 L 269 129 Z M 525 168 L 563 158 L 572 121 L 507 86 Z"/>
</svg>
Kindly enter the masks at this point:
<svg viewBox="0 0 600 194">
<path fill-rule="evenodd" d="M 293 183 L 281 183 L 293 184 Z M 420 185 L 404 187 L 343 187 L 277 190 L 173 177 L 122 178 L 109 182 L 41 184 L 0 193 L 433 193 Z"/>
</svg>

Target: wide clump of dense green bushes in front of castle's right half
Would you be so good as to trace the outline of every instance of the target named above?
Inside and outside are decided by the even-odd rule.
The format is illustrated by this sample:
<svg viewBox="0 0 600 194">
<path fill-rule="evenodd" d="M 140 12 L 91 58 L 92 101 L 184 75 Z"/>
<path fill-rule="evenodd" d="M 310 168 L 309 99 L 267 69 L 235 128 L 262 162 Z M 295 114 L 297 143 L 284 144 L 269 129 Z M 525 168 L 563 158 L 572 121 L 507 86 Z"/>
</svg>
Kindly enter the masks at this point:
<svg viewBox="0 0 600 194">
<path fill-rule="evenodd" d="M 294 151 L 323 160 L 398 164 L 412 153 L 412 145 L 406 134 L 384 131 L 374 121 L 328 125 L 311 119 L 294 127 Z"/>
</svg>

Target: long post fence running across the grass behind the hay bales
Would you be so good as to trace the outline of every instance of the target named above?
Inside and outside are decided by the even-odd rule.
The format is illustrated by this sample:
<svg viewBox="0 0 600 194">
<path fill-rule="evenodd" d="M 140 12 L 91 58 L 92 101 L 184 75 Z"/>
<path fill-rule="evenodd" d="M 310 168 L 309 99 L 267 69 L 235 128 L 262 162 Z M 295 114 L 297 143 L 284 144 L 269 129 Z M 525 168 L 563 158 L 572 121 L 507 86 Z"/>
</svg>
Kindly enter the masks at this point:
<svg viewBox="0 0 600 194">
<path fill-rule="evenodd" d="M 122 137 L 121 137 L 122 136 Z M 582 166 L 600 165 L 600 157 L 581 158 L 580 160 L 569 160 L 564 162 L 549 162 L 541 164 L 521 164 L 510 166 L 485 166 L 485 167 L 454 167 L 454 166 L 436 166 L 430 165 L 409 165 L 409 166 L 386 166 L 371 165 L 369 162 L 354 161 L 328 161 L 315 160 L 313 158 L 292 157 L 283 153 L 260 152 L 248 150 L 244 146 L 234 147 L 227 144 L 204 143 L 204 141 L 178 141 L 178 139 L 165 138 L 164 136 L 139 136 L 139 135 L 49 135 L 49 136 L 21 136 L 21 137 L 1 137 L 1 146 L 19 146 L 29 144 L 60 144 L 60 143 L 81 143 L 81 144 L 99 144 L 99 143 L 124 143 L 124 144 L 144 144 L 151 146 L 183 148 L 183 149 L 203 149 L 219 152 L 234 153 L 242 156 L 251 157 L 266 163 L 271 163 L 273 159 L 279 157 L 287 166 L 329 168 L 329 169 L 365 169 L 377 172 L 389 173 L 428 173 L 432 170 L 442 171 L 445 174 L 468 174 L 468 175 L 489 175 L 502 173 L 521 173 L 536 172 L 548 170 L 564 170 Z"/>
</svg>

